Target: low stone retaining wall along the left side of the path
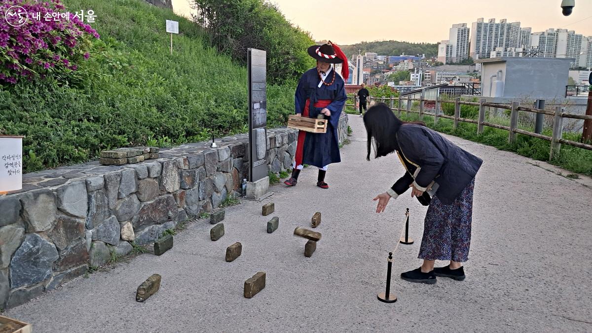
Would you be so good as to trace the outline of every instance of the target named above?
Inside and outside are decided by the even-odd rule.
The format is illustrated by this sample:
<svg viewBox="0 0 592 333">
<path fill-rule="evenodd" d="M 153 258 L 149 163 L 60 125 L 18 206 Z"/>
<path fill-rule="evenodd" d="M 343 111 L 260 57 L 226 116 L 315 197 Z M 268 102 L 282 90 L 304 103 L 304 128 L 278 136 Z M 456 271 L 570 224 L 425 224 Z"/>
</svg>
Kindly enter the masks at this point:
<svg viewBox="0 0 592 333">
<path fill-rule="evenodd" d="M 270 171 L 291 168 L 296 141 L 295 130 L 268 130 Z M 95 161 L 25 174 L 21 191 L 0 197 L 0 308 L 106 264 L 112 252 L 130 253 L 131 242 L 156 241 L 240 191 L 248 174 L 248 137 L 217 144 L 162 149 L 159 159 L 140 164 Z"/>
</svg>

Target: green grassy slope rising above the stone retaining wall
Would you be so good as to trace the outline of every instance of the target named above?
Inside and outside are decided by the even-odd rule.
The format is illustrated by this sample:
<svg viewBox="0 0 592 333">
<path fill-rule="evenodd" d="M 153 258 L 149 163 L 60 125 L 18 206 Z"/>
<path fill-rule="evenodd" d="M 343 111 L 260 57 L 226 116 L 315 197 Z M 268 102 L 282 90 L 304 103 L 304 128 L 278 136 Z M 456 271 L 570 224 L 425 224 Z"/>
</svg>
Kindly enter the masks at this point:
<svg viewBox="0 0 592 333">
<path fill-rule="evenodd" d="M 173 145 L 247 124 L 246 69 L 204 42 L 201 28 L 141 0 L 66 0 L 94 9 L 101 35 L 76 82 L 22 82 L 0 91 L 0 134 L 26 135 L 25 171 L 75 164 L 127 145 Z M 179 35 L 165 32 L 179 21 Z M 246 56 L 246 55 L 245 55 Z M 294 87 L 268 86 L 268 124 L 293 110 Z"/>
</svg>

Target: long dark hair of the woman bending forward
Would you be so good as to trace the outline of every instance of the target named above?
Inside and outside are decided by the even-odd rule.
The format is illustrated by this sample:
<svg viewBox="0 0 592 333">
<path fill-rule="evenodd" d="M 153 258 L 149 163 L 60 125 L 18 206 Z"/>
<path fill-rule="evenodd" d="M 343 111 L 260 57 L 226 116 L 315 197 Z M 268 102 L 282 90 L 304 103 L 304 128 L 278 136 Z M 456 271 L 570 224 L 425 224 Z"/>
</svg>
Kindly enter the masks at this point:
<svg viewBox="0 0 592 333">
<path fill-rule="evenodd" d="M 398 143 L 395 133 L 397 133 L 401 125 L 418 124 L 426 126 L 423 121 L 402 121 L 398 119 L 391 108 L 384 103 L 378 103 L 368 108 L 363 120 L 368 134 L 368 155 L 366 155 L 368 161 L 370 161 L 372 143 L 375 145 L 375 158 L 387 156 L 397 149 Z"/>
</svg>

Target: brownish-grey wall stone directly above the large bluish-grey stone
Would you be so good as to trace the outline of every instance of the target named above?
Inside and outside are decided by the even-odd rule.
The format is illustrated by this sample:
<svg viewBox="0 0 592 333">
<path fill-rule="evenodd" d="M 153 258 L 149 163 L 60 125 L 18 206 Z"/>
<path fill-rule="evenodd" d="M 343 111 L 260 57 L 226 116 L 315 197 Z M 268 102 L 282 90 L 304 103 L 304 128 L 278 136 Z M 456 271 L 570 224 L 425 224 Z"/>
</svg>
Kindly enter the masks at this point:
<svg viewBox="0 0 592 333">
<path fill-rule="evenodd" d="M 27 232 L 47 231 L 56 219 L 56 196 L 50 190 L 36 190 L 21 197 L 22 217 L 27 223 Z"/>
</svg>

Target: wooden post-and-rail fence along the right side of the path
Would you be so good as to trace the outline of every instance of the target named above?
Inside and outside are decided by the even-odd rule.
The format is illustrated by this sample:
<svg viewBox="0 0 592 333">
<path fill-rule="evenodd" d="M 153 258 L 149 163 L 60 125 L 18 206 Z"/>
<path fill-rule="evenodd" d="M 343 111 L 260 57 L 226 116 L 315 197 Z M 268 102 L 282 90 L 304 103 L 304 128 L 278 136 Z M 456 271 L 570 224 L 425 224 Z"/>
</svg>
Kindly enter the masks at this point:
<svg viewBox="0 0 592 333">
<path fill-rule="evenodd" d="M 350 99 L 350 98 L 355 98 L 355 97 L 348 97 L 348 99 Z M 501 104 L 501 103 L 485 103 L 485 100 L 481 100 L 480 102 L 468 102 L 468 101 L 461 101 L 460 97 L 456 97 L 455 100 L 440 100 L 440 99 L 426 100 L 423 98 L 423 94 L 421 95 L 420 98 L 411 98 L 410 96 L 408 96 L 406 98 L 401 98 L 401 97 L 399 97 L 399 98 L 394 98 L 394 97 L 372 98 L 371 97 L 370 101 L 372 101 L 372 100 L 390 104 L 391 110 L 397 111 L 398 116 L 401 116 L 401 112 L 403 112 L 403 111 L 407 113 L 407 116 L 410 113 L 419 113 L 420 119 L 423 119 L 423 116 L 434 117 L 435 124 L 437 124 L 438 119 L 440 119 L 440 118 L 451 119 L 454 121 L 454 128 L 455 129 L 458 127 L 459 121 L 462 121 L 464 123 L 477 124 L 477 133 L 478 134 L 483 133 L 484 126 L 494 127 L 496 129 L 507 130 L 509 133 L 508 141 L 510 143 L 513 143 L 516 140 L 516 133 L 519 133 L 522 135 L 538 137 L 539 139 L 550 141 L 551 142 L 551 152 L 549 152 L 549 161 L 551 159 L 553 159 L 555 156 L 559 155 L 559 149 L 561 148 L 562 143 L 564 145 L 575 146 L 575 147 L 582 148 L 582 149 L 588 149 L 588 151 L 592 151 L 592 145 L 587 145 L 585 143 L 575 142 L 575 141 L 571 141 L 571 140 L 565 140 L 562 138 L 564 118 L 592 120 L 592 116 L 585 116 L 584 114 L 565 113 L 564 107 L 556 107 L 555 112 L 553 112 L 553 111 L 541 110 L 538 108 L 521 107 L 521 106 L 519 106 L 518 102 L 513 102 L 511 105 L 510 104 Z M 397 103 L 398 103 L 397 107 L 394 107 L 395 101 L 397 101 Z M 403 101 L 407 102 L 406 108 L 404 108 L 404 109 L 402 108 Z M 419 110 L 412 110 L 413 105 L 411 105 L 412 104 L 411 101 L 419 101 Z M 435 111 L 434 112 L 426 112 L 424 110 L 424 102 L 435 102 L 436 103 Z M 445 114 L 442 114 L 442 111 L 440 111 L 440 105 L 442 103 L 454 104 L 454 116 L 446 116 Z M 478 106 L 479 107 L 479 119 L 474 120 L 474 119 L 461 118 L 461 105 Z M 355 107 L 355 104 L 346 104 L 346 106 Z M 485 121 L 485 107 L 503 108 L 506 110 L 511 110 L 510 126 L 502 126 L 502 125 L 489 123 L 489 122 Z M 533 132 L 519 129 L 518 128 L 519 111 L 542 113 L 542 114 L 546 114 L 548 116 L 553 116 L 554 119 L 553 119 L 552 135 L 546 136 L 546 135 L 541 135 L 538 133 L 533 133 Z"/>
</svg>

